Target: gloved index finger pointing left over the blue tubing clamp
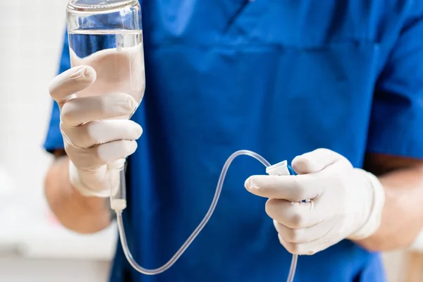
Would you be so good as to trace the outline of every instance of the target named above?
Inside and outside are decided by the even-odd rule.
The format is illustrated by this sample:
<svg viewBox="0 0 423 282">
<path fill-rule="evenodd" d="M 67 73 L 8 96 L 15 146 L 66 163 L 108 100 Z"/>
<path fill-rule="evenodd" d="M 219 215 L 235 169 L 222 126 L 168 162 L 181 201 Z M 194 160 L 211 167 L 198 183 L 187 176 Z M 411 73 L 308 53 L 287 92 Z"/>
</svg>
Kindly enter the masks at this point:
<svg viewBox="0 0 423 282">
<path fill-rule="evenodd" d="M 250 176 L 245 188 L 254 195 L 292 202 L 314 199 L 324 186 L 313 175 L 298 176 Z"/>
</svg>

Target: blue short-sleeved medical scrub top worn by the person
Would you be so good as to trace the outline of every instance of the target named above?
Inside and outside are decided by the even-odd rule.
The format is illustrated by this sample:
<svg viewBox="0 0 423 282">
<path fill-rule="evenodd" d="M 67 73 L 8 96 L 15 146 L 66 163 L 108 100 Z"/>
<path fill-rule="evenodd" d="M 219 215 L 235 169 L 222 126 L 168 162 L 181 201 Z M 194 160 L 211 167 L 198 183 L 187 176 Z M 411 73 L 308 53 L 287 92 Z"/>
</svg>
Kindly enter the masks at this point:
<svg viewBox="0 0 423 282">
<path fill-rule="evenodd" d="M 125 226 L 142 266 L 161 266 L 200 223 L 238 149 L 271 163 L 318 147 L 354 166 L 367 152 L 423 157 L 423 7 L 407 0 L 144 1 L 145 130 L 129 160 Z M 65 41 L 60 71 L 70 67 Z M 45 147 L 63 148 L 54 104 Z M 158 276 L 118 247 L 111 281 L 285 281 L 291 255 L 243 187 L 236 159 L 216 212 Z M 349 240 L 301 256 L 295 281 L 386 281 L 379 254 Z"/>
</svg>

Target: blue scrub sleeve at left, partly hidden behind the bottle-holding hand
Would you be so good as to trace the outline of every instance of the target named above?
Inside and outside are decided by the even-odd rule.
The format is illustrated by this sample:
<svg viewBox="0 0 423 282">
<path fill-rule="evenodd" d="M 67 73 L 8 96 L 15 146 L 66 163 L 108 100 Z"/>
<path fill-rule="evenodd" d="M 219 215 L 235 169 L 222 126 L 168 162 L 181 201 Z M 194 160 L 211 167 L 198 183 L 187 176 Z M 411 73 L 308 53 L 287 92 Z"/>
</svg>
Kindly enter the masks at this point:
<svg viewBox="0 0 423 282">
<path fill-rule="evenodd" d="M 71 68 L 71 59 L 69 57 L 68 34 L 66 32 L 63 51 L 61 54 L 59 73 L 63 73 Z M 44 142 L 44 149 L 53 152 L 56 149 L 63 149 L 63 138 L 60 132 L 60 112 L 59 106 L 53 101 L 49 130 L 47 131 L 47 138 Z"/>
</svg>

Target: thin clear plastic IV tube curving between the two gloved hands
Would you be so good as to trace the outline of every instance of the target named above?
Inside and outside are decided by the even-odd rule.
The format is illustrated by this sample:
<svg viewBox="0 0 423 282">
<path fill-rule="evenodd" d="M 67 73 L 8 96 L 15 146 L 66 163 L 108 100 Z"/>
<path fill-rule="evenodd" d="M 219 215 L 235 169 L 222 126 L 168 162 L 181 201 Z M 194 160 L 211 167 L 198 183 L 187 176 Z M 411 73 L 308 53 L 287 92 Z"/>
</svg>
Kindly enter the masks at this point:
<svg viewBox="0 0 423 282">
<path fill-rule="evenodd" d="M 128 262 L 130 263 L 131 266 L 133 266 L 133 268 L 135 270 L 137 270 L 138 272 L 140 272 L 142 274 L 155 275 L 155 274 L 161 274 L 162 272 L 171 268 L 171 266 L 178 260 L 178 258 L 183 254 L 183 252 L 185 252 L 185 250 L 187 250 L 187 248 L 190 246 L 192 241 L 202 231 L 202 228 L 204 228 L 204 226 L 206 226 L 207 222 L 209 221 L 210 217 L 212 216 L 212 214 L 214 212 L 214 209 L 216 208 L 217 202 L 219 201 L 219 197 L 220 197 L 222 187 L 223 187 L 223 182 L 225 180 L 226 173 L 228 172 L 228 168 L 231 165 L 233 159 L 235 159 L 236 157 L 238 157 L 240 155 L 247 155 L 247 156 L 253 157 L 253 158 L 257 159 L 258 161 L 260 161 L 264 166 L 266 166 L 266 167 L 270 166 L 269 161 L 266 161 L 266 159 L 264 159 L 262 156 L 260 156 L 259 154 L 255 153 L 255 152 L 251 152 L 251 151 L 248 151 L 248 150 L 240 150 L 240 151 L 237 151 L 237 152 L 231 154 L 231 156 L 226 160 L 226 163 L 222 168 L 221 175 L 219 177 L 219 182 L 217 183 L 217 187 L 216 187 L 216 192 L 214 192 L 212 204 L 210 205 L 209 210 L 207 211 L 207 214 L 204 216 L 204 219 L 202 219 L 202 221 L 197 226 L 197 228 L 195 228 L 195 231 L 192 232 L 190 237 L 185 241 L 185 243 L 182 245 L 182 247 L 180 247 L 178 252 L 176 252 L 176 254 L 173 255 L 173 257 L 171 257 L 171 259 L 169 259 L 169 261 L 166 262 L 166 264 L 164 264 L 163 266 L 160 266 L 157 269 L 145 269 L 144 267 L 137 264 L 137 262 L 135 262 L 135 259 L 133 258 L 132 254 L 130 253 L 130 250 L 129 250 L 129 247 L 128 247 L 128 242 L 126 240 L 125 228 L 123 227 L 123 219 L 122 219 L 123 209 L 116 209 L 115 210 L 116 211 L 116 217 L 117 217 L 117 220 L 118 220 L 119 237 L 121 238 L 121 244 L 122 244 L 122 247 L 123 247 L 123 252 L 125 253 L 126 259 L 128 259 Z M 125 189 L 125 170 L 121 171 L 121 183 L 122 183 L 121 189 Z M 124 195 L 124 192 L 123 192 L 123 195 Z M 122 199 L 116 199 L 114 197 L 111 197 L 111 201 L 116 201 L 116 200 L 122 200 Z M 112 203 L 111 206 L 114 207 L 114 204 Z M 295 269 L 297 268 L 297 260 L 298 260 L 298 255 L 293 255 L 293 259 L 292 259 L 291 264 L 290 264 L 290 270 L 289 270 L 287 282 L 293 282 L 293 280 L 294 280 Z"/>
</svg>

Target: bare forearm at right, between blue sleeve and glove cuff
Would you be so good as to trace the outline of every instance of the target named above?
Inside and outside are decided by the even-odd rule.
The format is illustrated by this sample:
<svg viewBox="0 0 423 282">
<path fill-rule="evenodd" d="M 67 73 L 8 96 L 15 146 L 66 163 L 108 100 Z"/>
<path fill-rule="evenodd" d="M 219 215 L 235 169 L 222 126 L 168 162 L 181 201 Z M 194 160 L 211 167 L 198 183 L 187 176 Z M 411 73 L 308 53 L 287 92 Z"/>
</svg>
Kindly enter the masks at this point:
<svg viewBox="0 0 423 282">
<path fill-rule="evenodd" d="M 395 169 L 379 180 L 386 192 L 381 227 L 358 243 L 375 251 L 407 247 L 423 228 L 423 166 Z"/>
</svg>

